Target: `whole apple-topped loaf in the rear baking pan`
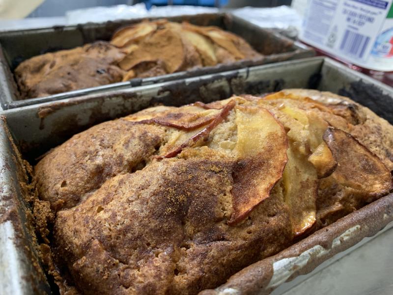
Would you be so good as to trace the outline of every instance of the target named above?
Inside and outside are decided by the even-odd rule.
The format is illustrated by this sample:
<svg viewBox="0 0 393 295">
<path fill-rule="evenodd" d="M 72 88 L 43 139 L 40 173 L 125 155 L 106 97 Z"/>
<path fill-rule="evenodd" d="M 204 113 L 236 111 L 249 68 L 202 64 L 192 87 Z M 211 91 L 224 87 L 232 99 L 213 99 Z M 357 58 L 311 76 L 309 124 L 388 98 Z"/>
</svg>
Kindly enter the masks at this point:
<svg viewBox="0 0 393 295">
<path fill-rule="evenodd" d="M 261 57 L 241 37 L 216 27 L 166 20 L 141 22 L 104 41 L 47 53 L 15 69 L 22 98 Z"/>
</svg>

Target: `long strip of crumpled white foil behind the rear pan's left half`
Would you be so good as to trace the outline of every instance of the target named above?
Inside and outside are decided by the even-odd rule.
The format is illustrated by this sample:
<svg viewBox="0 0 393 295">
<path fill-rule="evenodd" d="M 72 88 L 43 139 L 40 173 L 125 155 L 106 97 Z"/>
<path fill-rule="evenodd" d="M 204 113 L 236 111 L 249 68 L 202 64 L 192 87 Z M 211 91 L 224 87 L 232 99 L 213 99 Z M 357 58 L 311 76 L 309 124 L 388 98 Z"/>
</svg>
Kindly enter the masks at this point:
<svg viewBox="0 0 393 295">
<path fill-rule="evenodd" d="M 106 21 L 142 18 L 142 17 L 168 17 L 175 15 L 192 15 L 198 13 L 218 12 L 215 7 L 187 6 L 187 5 L 170 5 L 170 6 L 152 6 L 150 10 L 146 9 L 144 3 L 135 5 L 115 5 L 115 6 L 98 6 L 92 8 L 70 10 L 66 13 L 66 22 L 69 25 L 83 24 L 88 22 L 102 23 Z"/>
</svg>

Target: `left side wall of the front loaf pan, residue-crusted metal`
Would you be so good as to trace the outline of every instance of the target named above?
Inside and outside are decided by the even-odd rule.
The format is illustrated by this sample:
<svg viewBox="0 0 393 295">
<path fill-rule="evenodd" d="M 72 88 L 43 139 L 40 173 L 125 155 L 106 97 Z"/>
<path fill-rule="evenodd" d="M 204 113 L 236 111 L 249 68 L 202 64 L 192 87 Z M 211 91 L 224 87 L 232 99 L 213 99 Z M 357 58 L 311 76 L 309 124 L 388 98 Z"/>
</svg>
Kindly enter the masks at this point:
<svg viewBox="0 0 393 295">
<path fill-rule="evenodd" d="M 0 119 L 0 294 L 49 294 L 23 185 L 26 171 Z"/>
</svg>

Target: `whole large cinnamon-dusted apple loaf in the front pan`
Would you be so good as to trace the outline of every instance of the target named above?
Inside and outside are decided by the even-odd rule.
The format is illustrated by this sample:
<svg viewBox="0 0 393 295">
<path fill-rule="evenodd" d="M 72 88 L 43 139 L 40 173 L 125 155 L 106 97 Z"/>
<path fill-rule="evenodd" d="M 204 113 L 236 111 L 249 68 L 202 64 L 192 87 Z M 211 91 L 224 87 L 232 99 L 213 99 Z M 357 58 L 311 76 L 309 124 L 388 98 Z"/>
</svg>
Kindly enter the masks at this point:
<svg viewBox="0 0 393 295">
<path fill-rule="evenodd" d="M 101 123 L 35 178 L 80 292 L 197 294 L 388 194 L 392 151 L 367 108 L 289 89 Z"/>
</svg>

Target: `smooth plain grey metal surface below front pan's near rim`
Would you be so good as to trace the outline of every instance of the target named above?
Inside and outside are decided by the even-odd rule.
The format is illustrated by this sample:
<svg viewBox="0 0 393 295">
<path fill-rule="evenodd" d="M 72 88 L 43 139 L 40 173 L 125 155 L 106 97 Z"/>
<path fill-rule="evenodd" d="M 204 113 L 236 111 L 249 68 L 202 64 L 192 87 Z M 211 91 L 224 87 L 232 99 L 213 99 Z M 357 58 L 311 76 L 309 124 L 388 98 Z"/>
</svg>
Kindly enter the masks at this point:
<svg viewBox="0 0 393 295">
<path fill-rule="evenodd" d="M 283 295 L 392 295 L 392 249 L 390 227 Z"/>
</svg>

